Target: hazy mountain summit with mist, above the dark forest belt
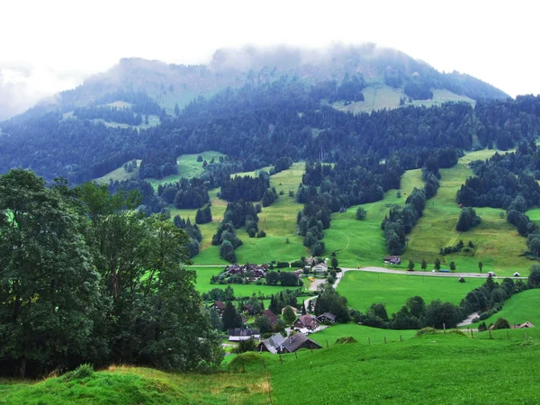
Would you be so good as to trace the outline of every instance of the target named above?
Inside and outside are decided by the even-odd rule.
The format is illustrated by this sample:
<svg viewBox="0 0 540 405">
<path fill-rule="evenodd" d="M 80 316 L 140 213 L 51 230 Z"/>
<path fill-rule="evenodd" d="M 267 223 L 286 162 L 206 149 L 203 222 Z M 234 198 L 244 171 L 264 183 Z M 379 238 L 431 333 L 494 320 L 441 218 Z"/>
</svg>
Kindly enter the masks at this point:
<svg viewBox="0 0 540 405">
<path fill-rule="evenodd" d="M 42 100 L 37 104 L 37 110 L 31 109 L 17 120 L 43 111 L 66 113 L 76 107 L 99 105 L 104 101 L 130 102 L 125 95 L 120 95 L 126 92 L 148 94 L 172 113 L 176 103 L 183 107 L 199 95 L 208 97 L 227 87 L 271 83 L 282 76 L 293 77 L 307 85 L 332 80 L 340 84 L 351 77 L 362 77 L 365 99 L 348 100 L 354 105 L 346 108 L 354 112 L 394 108 L 415 100 L 432 104 L 508 97 L 473 76 L 440 73 L 403 52 L 374 44 L 335 46 L 324 50 L 247 47 L 216 50 L 208 65 L 197 66 L 122 58 L 118 65 L 87 78 L 83 85 Z M 114 100 L 115 97 L 118 100 Z M 333 105 L 344 107 L 344 103 Z"/>
</svg>

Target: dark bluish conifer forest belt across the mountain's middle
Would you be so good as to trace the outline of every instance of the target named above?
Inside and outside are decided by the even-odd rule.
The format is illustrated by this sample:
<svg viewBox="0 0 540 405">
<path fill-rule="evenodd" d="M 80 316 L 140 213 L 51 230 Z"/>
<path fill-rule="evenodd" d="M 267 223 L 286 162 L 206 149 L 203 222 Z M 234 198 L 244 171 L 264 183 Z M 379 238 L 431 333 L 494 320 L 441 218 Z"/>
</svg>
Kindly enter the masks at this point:
<svg viewBox="0 0 540 405">
<path fill-rule="evenodd" d="M 361 80 L 355 80 L 361 87 Z M 338 162 L 362 156 L 379 162 L 396 152 L 403 169 L 410 169 L 423 166 L 421 155 L 434 148 L 496 145 L 504 150 L 534 139 L 540 129 L 540 99 L 535 96 L 481 101 L 475 107 L 445 103 L 356 115 L 322 103 L 323 96 L 328 94 L 314 91 L 313 85 L 282 76 L 198 97 L 177 116 L 163 116 L 160 125 L 147 130 L 63 120 L 59 112 L 5 121 L 0 124 L 0 172 L 20 166 L 47 180 L 63 176 L 80 184 L 142 158 L 141 177 L 160 178 L 174 173 L 175 157 L 203 150 L 220 151 L 246 171 L 281 157 Z M 147 113 L 138 112 L 135 104 L 132 110 Z"/>
</svg>

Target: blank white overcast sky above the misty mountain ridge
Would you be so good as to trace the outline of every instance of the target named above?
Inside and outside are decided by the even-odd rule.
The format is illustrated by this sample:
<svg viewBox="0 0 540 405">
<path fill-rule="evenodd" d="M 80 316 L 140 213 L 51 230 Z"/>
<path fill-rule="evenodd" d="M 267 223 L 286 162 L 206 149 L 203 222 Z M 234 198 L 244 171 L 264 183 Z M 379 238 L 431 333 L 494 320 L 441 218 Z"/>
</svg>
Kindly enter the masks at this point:
<svg viewBox="0 0 540 405">
<path fill-rule="evenodd" d="M 0 85 L 23 83 L 30 99 L 124 57 L 193 64 L 221 47 L 375 42 L 512 96 L 538 94 L 539 11 L 534 0 L 2 0 Z"/>
</svg>

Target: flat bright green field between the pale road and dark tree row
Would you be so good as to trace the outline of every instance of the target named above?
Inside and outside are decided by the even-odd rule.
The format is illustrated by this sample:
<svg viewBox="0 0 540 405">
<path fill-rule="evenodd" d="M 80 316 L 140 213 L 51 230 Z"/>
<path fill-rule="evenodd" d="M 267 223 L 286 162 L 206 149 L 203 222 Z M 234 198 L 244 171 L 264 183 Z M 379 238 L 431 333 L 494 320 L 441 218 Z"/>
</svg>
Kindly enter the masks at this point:
<svg viewBox="0 0 540 405">
<path fill-rule="evenodd" d="M 392 275 L 348 271 L 338 292 L 347 297 L 347 304 L 364 312 L 374 302 L 383 302 L 391 316 L 399 311 L 408 298 L 419 295 L 429 304 L 435 299 L 458 304 L 475 287 L 482 285 L 482 278 L 469 278 L 459 283 L 455 277 L 421 275 Z"/>
</svg>

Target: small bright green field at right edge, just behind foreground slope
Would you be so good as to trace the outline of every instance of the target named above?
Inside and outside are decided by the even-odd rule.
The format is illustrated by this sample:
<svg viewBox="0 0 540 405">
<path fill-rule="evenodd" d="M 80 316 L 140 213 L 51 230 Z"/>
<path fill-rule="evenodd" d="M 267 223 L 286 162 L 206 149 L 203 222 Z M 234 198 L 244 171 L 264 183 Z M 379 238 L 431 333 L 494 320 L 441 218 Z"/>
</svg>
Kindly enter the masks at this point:
<svg viewBox="0 0 540 405">
<path fill-rule="evenodd" d="M 504 318 L 510 325 L 524 323 L 527 320 L 536 327 L 540 327 L 540 290 L 527 290 L 513 295 L 504 302 L 502 310 L 487 320 L 486 325 L 495 323 L 499 318 Z M 472 328 L 478 327 L 480 322 L 473 323 Z"/>
</svg>

